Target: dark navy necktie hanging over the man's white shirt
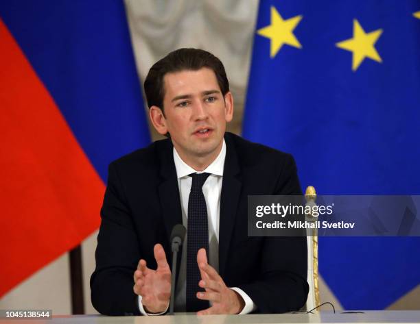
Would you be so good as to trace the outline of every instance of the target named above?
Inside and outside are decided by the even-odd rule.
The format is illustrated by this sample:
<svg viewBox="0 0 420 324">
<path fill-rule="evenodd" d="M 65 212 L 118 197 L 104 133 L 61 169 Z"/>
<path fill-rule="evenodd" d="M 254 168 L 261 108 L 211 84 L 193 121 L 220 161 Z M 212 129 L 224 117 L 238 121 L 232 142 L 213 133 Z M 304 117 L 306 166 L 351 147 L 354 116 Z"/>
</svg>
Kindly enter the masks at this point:
<svg viewBox="0 0 420 324">
<path fill-rule="evenodd" d="M 197 264 L 197 252 L 204 247 L 209 258 L 209 225 L 207 223 L 207 205 L 202 193 L 202 185 L 209 173 L 192 173 L 191 192 L 188 199 L 187 224 L 187 312 L 197 312 L 209 308 L 209 301 L 196 297 L 198 291 L 204 289 L 198 286 L 200 269 Z"/>
</svg>

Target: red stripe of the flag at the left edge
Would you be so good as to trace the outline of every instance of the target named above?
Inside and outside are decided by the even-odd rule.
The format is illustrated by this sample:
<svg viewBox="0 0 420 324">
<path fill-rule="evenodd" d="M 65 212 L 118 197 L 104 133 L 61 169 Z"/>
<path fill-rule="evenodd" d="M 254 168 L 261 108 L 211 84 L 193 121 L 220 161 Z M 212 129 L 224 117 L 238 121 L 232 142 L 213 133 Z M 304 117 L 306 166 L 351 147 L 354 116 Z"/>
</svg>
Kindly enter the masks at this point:
<svg viewBox="0 0 420 324">
<path fill-rule="evenodd" d="M 100 223 L 102 179 L 0 19 L 0 297 Z"/>
</svg>

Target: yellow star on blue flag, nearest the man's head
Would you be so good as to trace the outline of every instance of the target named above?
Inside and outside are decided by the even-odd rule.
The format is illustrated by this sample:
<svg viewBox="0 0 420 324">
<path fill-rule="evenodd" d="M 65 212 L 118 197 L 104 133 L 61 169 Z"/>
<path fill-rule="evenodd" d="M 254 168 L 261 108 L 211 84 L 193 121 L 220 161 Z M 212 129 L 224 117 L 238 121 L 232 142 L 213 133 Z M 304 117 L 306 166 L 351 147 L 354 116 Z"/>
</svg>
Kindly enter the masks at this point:
<svg viewBox="0 0 420 324">
<path fill-rule="evenodd" d="M 281 18 L 275 7 L 271 7 L 271 25 L 258 29 L 260 36 L 270 38 L 270 58 L 274 58 L 284 44 L 302 48 L 301 43 L 293 34 L 293 30 L 301 21 L 302 16 L 294 16 L 287 20 Z"/>
</svg>

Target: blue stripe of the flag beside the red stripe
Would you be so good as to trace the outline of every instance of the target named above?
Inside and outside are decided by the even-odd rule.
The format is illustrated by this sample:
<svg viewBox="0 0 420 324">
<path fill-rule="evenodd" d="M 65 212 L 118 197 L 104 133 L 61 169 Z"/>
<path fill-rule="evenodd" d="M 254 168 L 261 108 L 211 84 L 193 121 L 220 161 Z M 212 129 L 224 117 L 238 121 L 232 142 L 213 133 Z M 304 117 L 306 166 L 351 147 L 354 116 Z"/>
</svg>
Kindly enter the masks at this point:
<svg viewBox="0 0 420 324">
<path fill-rule="evenodd" d="M 0 16 L 104 181 L 150 142 L 123 1 L 5 0 Z"/>
</svg>

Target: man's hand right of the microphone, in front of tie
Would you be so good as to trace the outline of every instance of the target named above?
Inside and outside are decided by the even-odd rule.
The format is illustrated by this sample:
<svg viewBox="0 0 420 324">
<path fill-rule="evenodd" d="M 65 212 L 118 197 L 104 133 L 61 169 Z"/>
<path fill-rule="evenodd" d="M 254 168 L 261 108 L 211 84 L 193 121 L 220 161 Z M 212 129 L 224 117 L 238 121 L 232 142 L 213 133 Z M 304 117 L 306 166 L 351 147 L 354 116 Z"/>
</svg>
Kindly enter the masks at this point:
<svg viewBox="0 0 420 324">
<path fill-rule="evenodd" d="M 211 301 L 213 305 L 207 310 L 200 310 L 197 314 L 239 314 L 244 309 L 244 299 L 237 292 L 226 287 L 222 277 L 207 263 L 205 249 L 198 250 L 197 263 L 201 273 L 198 285 L 205 288 L 205 292 L 197 292 L 197 298 Z"/>
</svg>

